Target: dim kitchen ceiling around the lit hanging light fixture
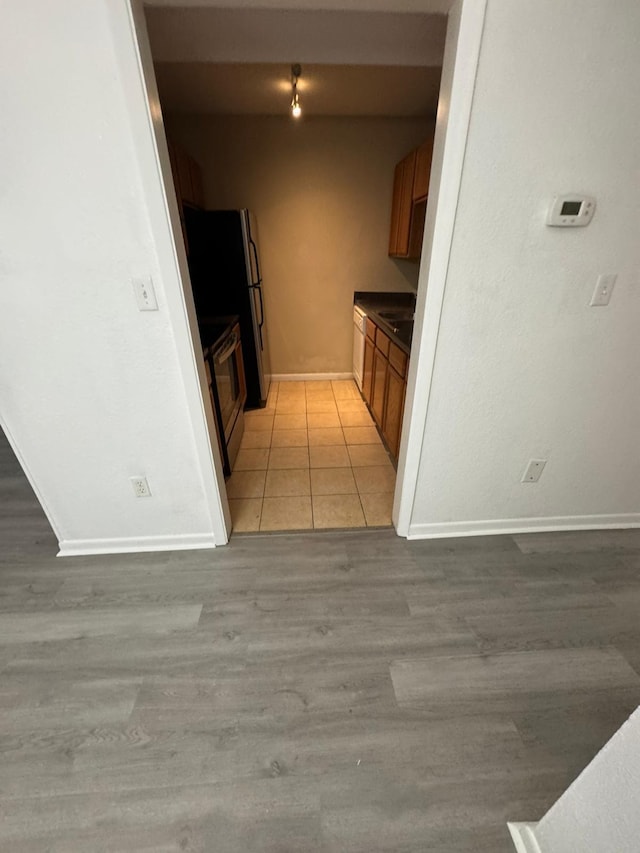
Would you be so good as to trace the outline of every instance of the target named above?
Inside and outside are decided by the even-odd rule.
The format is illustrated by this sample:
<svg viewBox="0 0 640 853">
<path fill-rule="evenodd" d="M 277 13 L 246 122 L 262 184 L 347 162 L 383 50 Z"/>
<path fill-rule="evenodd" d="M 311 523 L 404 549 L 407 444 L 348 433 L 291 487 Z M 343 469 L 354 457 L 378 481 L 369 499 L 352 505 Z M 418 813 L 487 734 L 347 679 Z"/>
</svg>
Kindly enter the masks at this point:
<svg viewBox="0 0 640 853">
<path fill-rule="evenodd" d="M 147 8 L 163 110 L 286 115 L 291 64 L 305 116 L 435 115 L 444 15 Z"/>
</svg>

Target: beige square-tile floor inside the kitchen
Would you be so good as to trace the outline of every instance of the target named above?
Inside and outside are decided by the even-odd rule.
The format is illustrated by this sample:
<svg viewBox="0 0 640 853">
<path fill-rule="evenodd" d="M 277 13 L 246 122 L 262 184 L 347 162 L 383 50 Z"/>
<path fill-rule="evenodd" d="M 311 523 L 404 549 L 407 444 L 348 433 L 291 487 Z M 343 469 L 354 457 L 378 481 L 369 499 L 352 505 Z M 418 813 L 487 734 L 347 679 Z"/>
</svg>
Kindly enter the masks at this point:
<svg viewBox="0 0 640 853">
<path fill-rule="evenodd" d="M 273 383 L 245 414 L 227 481 L 233 530 L 391 524 L 396 472 L 352 380 Z"/>
</svg>

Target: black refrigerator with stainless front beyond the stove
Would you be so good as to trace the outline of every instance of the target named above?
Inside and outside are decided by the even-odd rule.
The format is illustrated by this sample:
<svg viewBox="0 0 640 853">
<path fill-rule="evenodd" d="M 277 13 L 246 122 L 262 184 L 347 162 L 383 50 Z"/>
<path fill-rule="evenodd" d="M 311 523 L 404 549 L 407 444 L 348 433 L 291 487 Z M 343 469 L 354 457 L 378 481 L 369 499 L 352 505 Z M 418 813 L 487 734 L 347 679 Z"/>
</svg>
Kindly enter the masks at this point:
<svg viewBox="0 0 640 853">
<path fill-rule="evenodd" d="M 255 217 L 248 210 L 185 208 L 185 227 L 198 320 L 238 314 L 246 407 L 265 406 L 271 370 Z"/>
</svg>

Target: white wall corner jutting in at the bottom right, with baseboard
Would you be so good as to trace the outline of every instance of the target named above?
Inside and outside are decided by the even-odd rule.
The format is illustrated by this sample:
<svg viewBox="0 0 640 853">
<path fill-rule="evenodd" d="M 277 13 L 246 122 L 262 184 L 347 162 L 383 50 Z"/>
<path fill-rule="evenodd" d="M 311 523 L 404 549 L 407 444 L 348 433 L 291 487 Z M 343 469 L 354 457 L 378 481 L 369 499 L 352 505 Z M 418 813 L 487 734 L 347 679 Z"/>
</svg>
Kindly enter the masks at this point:
<svg viewBox="0 0 640 853">
<path fill-rule="evenodd" d="M 640 710 L 537 824 L 516 835 L 540 853 L 637 853 L 640 838 Z M 533 837 L 533 843 L 532 842 Z"/>
</svg>

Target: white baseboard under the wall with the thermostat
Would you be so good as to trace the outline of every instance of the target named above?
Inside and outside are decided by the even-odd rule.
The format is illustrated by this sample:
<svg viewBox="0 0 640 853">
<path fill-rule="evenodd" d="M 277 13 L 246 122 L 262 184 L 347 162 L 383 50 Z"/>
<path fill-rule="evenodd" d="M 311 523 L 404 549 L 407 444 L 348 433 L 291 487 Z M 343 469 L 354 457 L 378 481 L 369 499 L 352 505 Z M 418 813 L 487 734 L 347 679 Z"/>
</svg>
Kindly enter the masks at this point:
<svg viewBox="0 0 640 853">
<path fill-rule="evenodd" d="M 553 533 L 562 530 L 616 530 L 630 527 L 640 527 L 640 513 L 410 524 L 407 539 L 444 539 L 455 536 L 495 536 L 515 533 Z"/>
</svg>

